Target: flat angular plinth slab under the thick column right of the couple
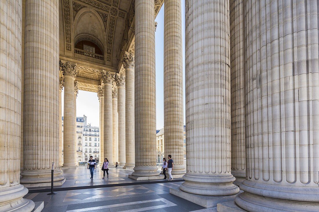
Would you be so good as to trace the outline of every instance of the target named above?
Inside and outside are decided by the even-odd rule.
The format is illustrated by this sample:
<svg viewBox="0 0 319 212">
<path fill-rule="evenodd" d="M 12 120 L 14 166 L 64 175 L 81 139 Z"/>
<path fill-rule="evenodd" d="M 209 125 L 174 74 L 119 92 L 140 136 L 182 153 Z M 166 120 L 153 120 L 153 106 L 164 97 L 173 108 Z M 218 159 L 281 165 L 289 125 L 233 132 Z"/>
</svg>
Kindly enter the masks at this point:
<svg viewBox="0 0 319 212">
<path fill-rule="evenodd" d="M 182 199 L 191 201 L 197 205 L 203 206 L 204 208 L 216 207 L 218 203 L 234 201 L 237 194 L 227 195 L 227 196 L 204 196 L 198 194 L 190 194 L 182 191 L 179 187 L 170 188 L 169 193 L 178 196 Z"/>
</svg>

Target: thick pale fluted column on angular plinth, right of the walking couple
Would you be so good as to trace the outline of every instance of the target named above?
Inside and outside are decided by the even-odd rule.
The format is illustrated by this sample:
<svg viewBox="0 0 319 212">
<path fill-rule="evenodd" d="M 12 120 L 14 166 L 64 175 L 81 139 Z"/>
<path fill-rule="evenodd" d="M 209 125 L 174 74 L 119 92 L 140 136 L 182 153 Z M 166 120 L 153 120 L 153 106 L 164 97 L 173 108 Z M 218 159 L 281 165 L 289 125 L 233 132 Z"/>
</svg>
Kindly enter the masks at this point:
<svg viewBox="0 0 319 212">
<path fill-rule="evenodd" d="M 187 172 L 170 193 L 210 208 L 239 192 L 230 172 L 228 1 L 187 5 Z"/>
</svg>

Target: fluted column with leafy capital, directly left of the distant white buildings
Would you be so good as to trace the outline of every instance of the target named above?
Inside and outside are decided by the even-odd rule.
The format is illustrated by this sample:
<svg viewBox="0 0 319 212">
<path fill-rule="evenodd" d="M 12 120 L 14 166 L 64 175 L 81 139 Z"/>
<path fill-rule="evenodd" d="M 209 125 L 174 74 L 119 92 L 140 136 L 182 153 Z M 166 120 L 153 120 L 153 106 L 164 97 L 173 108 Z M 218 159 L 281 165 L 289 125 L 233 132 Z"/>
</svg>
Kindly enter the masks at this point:
<svg viewBox="0 0 319 212">
<path fill-rule="evenodd" d="M 64 117 L 63 117 L 63 166 L 76 167 L 76 139 L 75 139 L 75 94 L 74 80 L 76 77 L 76 65 L 66 62 L 61 66 L 64 75 Z"/>
</svg>

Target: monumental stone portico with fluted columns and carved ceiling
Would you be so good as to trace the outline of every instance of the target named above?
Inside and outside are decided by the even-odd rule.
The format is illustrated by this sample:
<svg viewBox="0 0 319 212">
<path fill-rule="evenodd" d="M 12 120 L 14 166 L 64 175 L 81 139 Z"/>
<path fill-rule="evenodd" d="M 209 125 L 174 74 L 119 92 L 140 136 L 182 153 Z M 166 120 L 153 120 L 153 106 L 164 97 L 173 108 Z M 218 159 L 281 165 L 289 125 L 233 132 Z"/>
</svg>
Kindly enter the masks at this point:
<svg viewBox="0 0 319 212">
<path fill-rule="evenodd" d="M 26 187 L 49 186 L 52 162 L 55 185 L 76 168 L 77 90 L 99 97 L 100 158 L 112 167 L 117 157 L 135 180 L 162 178 L 161 7 L 164 152 L 185 180 L 170 193 L 217 211 L 319 211 L 319 2 L 185 1 L 186 163 L 181 1 L 163 4 L 0 0 L 1 212 L 32 211 Z"/>
</svg>

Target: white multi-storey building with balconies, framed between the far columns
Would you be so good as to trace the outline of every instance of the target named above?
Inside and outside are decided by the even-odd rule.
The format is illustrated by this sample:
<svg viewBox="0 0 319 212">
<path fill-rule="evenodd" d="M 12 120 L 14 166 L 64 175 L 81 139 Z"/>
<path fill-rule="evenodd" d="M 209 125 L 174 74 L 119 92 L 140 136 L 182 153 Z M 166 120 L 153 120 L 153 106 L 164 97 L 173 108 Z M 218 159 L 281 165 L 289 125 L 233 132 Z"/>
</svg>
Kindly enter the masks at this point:
<svg viewBox="0 0 319 212">
<path fill-rule="evenodd" d="M 83 161 L 87 162 L 90 156 L 100 161 L 100 129 L 99 127 L 93 127 L 91 124 L 87 124 L 83 128 Z"/>
</svg>

